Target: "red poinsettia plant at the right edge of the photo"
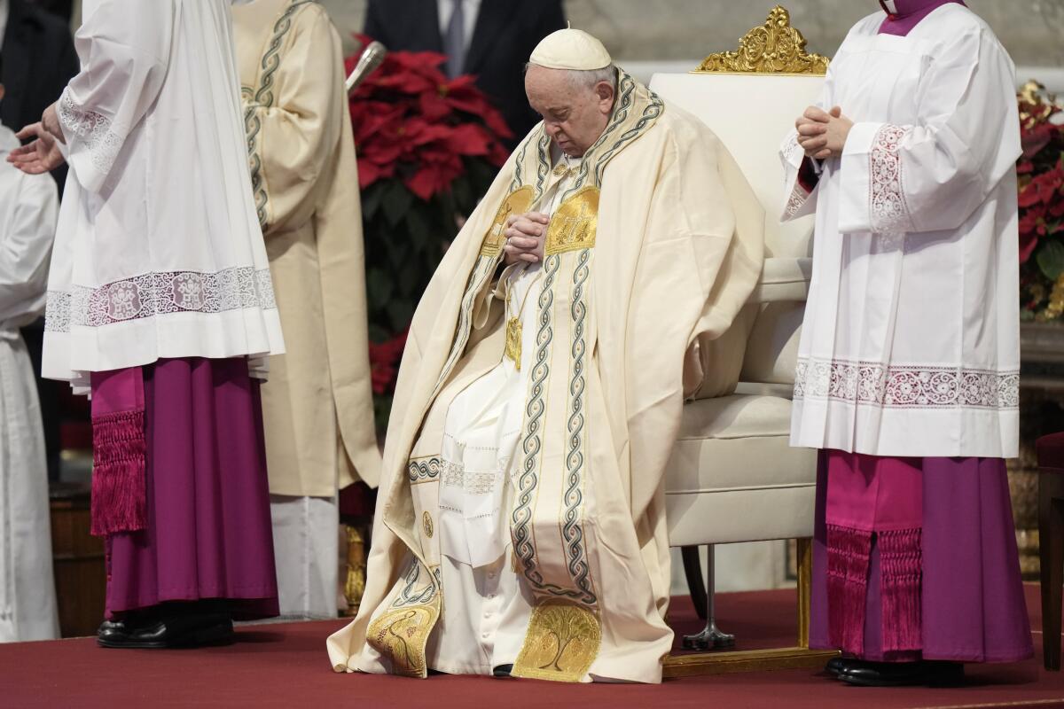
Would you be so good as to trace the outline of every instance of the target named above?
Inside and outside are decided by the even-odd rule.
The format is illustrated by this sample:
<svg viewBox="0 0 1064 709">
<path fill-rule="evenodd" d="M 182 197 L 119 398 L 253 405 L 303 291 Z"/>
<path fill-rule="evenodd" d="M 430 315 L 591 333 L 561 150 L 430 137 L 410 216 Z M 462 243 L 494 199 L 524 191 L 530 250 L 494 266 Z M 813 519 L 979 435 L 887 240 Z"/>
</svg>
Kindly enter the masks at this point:
<svg viewBox="0 0 1064 709">
<path fill-rule="evenodd" d="M 1020 313 L 1064 316 L 1064 106 L 1036 82 L 1019 92 L 1024 154 L 1019 179 Z"/>
</svg>

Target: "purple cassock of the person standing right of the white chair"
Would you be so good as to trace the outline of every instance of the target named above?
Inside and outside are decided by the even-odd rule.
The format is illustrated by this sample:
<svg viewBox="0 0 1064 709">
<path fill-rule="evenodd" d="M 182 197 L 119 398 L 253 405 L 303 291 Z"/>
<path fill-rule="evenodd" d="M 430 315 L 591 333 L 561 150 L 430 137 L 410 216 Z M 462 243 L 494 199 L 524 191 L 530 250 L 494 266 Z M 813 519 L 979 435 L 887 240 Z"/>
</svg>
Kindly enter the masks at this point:
<svg viewBox="0 0 1064 709">
<path fill-rule="evenodd" d="M 957 1 L 881 0 L 879 34 L 905 36 Z M 888 662 L 1031 657 L 1004 460 L 820 451 L 812 603 L 812 647 Z"/>
</svg>

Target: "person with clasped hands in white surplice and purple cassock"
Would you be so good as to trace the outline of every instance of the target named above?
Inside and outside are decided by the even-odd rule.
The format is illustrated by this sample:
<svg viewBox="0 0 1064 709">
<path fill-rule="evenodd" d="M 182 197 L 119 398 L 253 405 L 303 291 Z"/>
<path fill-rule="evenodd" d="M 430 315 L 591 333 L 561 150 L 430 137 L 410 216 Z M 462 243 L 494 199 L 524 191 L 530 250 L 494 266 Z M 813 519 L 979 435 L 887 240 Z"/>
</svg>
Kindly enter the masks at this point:
<svg viewBox="0 0 1064 709">
<path fill-rule="evenodd" d="M 962 2 L 884 1 L 784 141 L 816 213 L 792 443 L 820 449 L 811 645 L 855 685 L 1030 657 L 1013 65 Z"/>
</svg>

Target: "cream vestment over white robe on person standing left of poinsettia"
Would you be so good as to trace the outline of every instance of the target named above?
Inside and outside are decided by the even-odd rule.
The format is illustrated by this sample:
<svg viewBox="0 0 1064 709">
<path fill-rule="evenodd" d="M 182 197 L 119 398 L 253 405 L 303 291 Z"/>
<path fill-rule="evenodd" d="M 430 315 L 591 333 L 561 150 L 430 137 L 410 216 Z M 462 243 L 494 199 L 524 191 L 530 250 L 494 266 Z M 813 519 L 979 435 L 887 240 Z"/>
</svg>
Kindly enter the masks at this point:
<svg viewBox="0 0 1064 709">
<path fill-rule="evenodd" d="M 281 612 L 336 615 L 336 493 L 377 486 L 359 175 L 339 35 L 306 0 L 233 6 L 257 217 L 287 339 L 263 386 Z"/>
</svg>

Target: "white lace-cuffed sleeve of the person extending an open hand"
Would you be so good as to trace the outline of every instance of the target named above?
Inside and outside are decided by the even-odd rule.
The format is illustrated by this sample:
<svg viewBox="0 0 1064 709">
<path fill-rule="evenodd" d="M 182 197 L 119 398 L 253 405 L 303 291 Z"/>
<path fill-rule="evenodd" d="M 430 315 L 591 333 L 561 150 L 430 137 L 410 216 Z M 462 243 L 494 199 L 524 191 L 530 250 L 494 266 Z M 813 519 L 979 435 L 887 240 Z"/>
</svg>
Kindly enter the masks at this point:
<svg viewBox="0 0 1064 709">
<path fill-rule="evenodd" d="M 100 0 L 74 35 L 81 71 L 59 101 L 67 162 L 99 191 L 166 77 L 174 0 Z"/>
</svg>

